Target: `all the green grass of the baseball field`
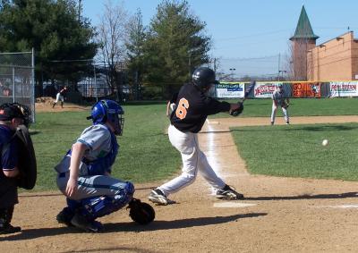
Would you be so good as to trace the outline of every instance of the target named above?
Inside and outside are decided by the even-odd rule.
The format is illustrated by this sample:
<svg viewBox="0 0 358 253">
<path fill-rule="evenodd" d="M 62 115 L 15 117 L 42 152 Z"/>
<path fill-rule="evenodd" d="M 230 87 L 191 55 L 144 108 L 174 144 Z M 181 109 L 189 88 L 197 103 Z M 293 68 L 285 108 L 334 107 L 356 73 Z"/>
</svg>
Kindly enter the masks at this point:
<svg viewBox="0 0 358 253">
<path fill-rule="evenodd" d="M 234 102 L 231 100 L 230 102 Z M 290 115 L 356 114 L 358 99 L 292 99 Z M 134 183 L 158 181 L 177 173 L 181 157 L 167 139 L 166 103 L 124 105 L 124 136 L 113 174 Z M 243 117 L 265 116 L 269 99 L 247 100 Z M 55 190 L 57 164 L 81 131 L 89 112 L 38 113 L 31 125 L 38 160 L 35 190 Z M 281 113 L 278 112 L 277 116 Z M 217 114 L 215 117 L 227 117 Z M 251 173 L 358 180 L 354 173 L 358 125 L 307 125 L 235 128 L 234 139 Z M 277 137 L 277 138 L 274 138 Z M 327 148 L 322 139 L 329 139 Z M 260 144 L 260 145 L 258 145 Z M 252 152 L 252 150 L 255 150 Z M 252 154 L 252 155 L 251 155 Z M 342 165 L 344 164 L 344 165 Z"/>
</svg>

